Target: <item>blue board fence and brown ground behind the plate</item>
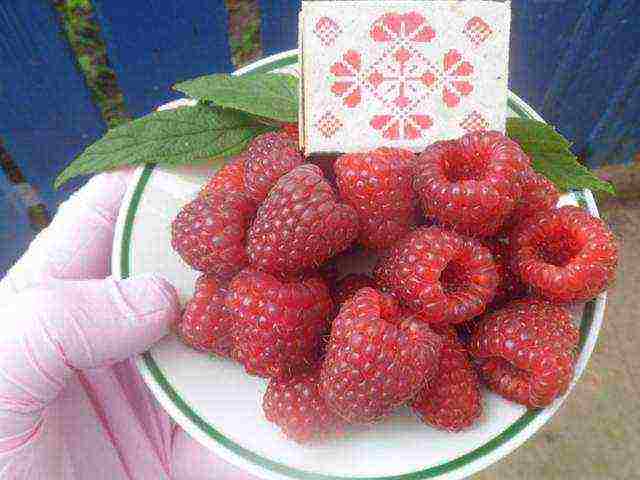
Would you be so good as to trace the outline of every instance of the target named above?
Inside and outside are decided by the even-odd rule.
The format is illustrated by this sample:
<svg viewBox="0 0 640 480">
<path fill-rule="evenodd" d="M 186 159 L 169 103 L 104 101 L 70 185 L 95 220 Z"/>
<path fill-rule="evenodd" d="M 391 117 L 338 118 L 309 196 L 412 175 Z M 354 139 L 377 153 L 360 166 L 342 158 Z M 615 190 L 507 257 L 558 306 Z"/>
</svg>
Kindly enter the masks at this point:
<svg viewBox="0 0 640 480">
<path fill-rule="evenodd" d="M 176 81 L 295 48 L 299 0 L 0 3 L 0 278 L 83 180 L 53 179 Z M 513 0 L 510 88 L 615 185 L 605 326 L 554 420 L 478 480 L 640 478 L 640 2 Z"/>
</svg>

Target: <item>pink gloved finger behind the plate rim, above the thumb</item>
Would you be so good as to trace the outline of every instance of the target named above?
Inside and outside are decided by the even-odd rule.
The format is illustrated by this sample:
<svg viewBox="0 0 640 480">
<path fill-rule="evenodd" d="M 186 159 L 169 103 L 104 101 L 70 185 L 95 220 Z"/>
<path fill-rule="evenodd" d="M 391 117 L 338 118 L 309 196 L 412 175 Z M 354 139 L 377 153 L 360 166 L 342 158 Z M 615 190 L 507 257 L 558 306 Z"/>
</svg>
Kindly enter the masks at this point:
<svg viewBox="0 0 640 480">
<path fill-rule="evenodd" d="M 110 271 L 113 233 L 133 170 L 96 175 L 64 202 L 51 225 L 0 283 L 16 293 L 50 279 L 105 278 Z"/>
</svg>

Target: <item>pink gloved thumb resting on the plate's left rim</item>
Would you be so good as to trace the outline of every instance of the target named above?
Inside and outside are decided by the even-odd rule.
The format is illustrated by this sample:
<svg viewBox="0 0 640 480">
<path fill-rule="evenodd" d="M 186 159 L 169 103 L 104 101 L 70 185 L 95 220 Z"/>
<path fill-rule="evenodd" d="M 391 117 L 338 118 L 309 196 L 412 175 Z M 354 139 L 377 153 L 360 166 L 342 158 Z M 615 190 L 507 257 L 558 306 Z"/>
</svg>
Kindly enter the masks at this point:
<svg viewBox="0 0 640 480">
<path fill-rule="evenodd" d="M 15 295 L 0 307 L 0 446 L 29 438 L 74 370 L 143 352 L 178 315 L 175 289 L 154 276 L 55 282 Z"/>
</svg>

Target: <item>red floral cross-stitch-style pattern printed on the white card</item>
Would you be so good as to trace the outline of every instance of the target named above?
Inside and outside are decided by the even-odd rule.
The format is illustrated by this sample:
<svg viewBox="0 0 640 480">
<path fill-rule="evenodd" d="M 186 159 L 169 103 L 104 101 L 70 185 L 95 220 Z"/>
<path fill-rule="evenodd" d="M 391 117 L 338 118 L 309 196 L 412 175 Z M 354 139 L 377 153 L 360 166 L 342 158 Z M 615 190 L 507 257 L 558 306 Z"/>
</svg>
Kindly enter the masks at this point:
<svg viewBox="0 0 640 480">
<path fill-rule="evenodd" d="M 323 17 L 327 18 L 327 17 Z M 322 20 L 322 19 L 321 19 Z M 329 19 L 330 20 L 330 19 Z M 323 21 L 335 24 L 334 21 Z M 339 27 L 337 27 L 339 28 Z M 477 46 L 491 35 L 491 28 L 479 17 L 465 25 L 463 32 Z M 369 96 L 379 101 L 384 113 L 374 115 L 370 125 L 389 140 L 415 140 L 433 126 L 434 119 L 423 111 L 423 100 L 438 94 L 446 108 L 457 108 L 473 91 L 473 65 L 455 48 L 441 58 L 426 58 L 425 44 L 432 42 L 437 32 L 417 12 L 388 13 L 371 25 L 369 36 L 374 42 L 386 44 L 383 53 L 365 64 L 360 52 L 346 51 L 341 60 L 330 67 L 335 77 L 331 86 L 334 95 L 347 108 L 355 108 Z M 475 112 L 476 115 L 481 115 Z M 466 120 L 466 119 L 465 119 Z M 484 119 L 468 119 L 461 127 L 482 128 Z M 335 130 L 332 129 L 332 133 Z"/>
</svg>

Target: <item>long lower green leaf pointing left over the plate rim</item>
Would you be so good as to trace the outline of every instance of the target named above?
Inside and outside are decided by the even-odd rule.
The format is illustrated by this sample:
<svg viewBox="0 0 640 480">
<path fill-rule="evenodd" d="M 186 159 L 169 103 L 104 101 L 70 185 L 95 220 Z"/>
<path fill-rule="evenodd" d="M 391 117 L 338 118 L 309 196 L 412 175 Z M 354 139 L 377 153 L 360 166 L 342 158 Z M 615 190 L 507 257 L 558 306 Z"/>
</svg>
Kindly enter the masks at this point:
<svg viewBox="0 0 640 480">
<path fill-rule="evenodd" d="M 60 173 L 54 186 L 124 165 L 191 164 L 235 155 L 272 129 L 246 113 L 201 104 L 153 112 L 109 130 Z"/>
</svg>

